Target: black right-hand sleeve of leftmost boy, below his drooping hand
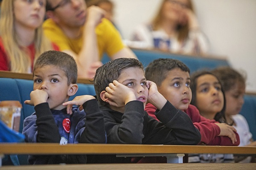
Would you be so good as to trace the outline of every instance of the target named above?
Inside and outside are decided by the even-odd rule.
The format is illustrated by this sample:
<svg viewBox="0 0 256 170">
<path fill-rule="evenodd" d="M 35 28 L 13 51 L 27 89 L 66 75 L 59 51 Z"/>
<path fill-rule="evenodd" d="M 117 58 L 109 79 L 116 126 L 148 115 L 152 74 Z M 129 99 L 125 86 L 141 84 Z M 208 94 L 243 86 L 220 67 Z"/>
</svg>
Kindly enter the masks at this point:
<svg viewBox="0 0 256 170">
<path fill-rule="evenodd" d="M 79 143 L 106 143 L 104 116 L 99 109 L 97 99 L 88 100 L 83 104 L 83 108 L 86 113 L 86 127 Z"/>
</svg>

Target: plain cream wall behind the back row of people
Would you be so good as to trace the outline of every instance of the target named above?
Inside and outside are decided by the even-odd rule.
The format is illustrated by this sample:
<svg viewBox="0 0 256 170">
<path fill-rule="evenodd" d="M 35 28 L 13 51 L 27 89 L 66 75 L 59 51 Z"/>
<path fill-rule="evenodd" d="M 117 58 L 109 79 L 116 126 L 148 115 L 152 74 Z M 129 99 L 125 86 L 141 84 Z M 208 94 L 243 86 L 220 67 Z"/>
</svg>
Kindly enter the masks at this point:
<svg viewBox="0 0 256 170">
<path fill-rule="evenodd" d="M 124 39 L 139 23 L 149 20 L 160 0 L 112 0 Z M 211 54 L 227 56 L 236 69 L 247 72 L 247 91 L 256 92 L 256 0 L 193 0 Z"/>
</svg>

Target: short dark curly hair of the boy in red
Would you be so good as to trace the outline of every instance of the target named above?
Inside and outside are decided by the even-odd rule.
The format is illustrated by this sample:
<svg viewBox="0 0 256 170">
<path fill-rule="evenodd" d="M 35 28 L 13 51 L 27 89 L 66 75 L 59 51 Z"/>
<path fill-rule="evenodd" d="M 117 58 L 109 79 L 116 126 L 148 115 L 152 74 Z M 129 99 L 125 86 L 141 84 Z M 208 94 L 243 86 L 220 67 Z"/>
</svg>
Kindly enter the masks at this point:
<svg viewBox="0 0 256 170">
<path fill-rule="evenodd" d="M 168 72 L 180 68 L 182 71 L 189 72 L 189 68 L 177 59 L 155 59 L 145 68 L 145 77 L 160 86 L 166 79 Z"/>
</svg>

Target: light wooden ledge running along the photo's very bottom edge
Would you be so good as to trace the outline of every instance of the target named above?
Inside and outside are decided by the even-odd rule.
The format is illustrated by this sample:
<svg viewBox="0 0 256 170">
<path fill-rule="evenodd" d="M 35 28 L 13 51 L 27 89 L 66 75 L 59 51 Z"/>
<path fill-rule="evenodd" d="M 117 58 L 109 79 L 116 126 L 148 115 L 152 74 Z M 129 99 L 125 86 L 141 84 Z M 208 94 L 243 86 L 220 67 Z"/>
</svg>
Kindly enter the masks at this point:
<svg viewBox="0 0 256 170">
<path fill-rule="evenodd" d="M 184 164 L 66 164 L 3 166 L 1 170 L 255 170 L 256 163 Z"/>
</svg>

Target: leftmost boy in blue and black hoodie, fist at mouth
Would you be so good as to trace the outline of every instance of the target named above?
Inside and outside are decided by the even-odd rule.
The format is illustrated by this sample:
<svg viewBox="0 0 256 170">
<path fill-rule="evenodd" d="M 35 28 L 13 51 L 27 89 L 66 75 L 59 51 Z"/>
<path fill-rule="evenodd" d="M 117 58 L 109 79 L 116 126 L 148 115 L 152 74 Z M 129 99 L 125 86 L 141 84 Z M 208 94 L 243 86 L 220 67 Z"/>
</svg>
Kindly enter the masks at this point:
<svg viewBox="0 0 256 170">
<path fill-rule="evenodd" d="M 25 104 L 34 105 L 35 113 L 24 120 L 26 142 L 106 143 L 103 113 L 95 97 L 84 95 L 76 103 L 68 102 L 78 90 L 73 57 L 60 51 L 44 52 L 35 62 L 33 79 L 34 91 Z M 30 164 L 86 162 L 86 155 L 29 156 Z"/>
</svg>

